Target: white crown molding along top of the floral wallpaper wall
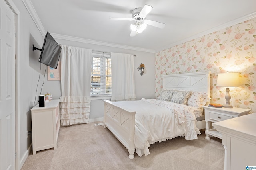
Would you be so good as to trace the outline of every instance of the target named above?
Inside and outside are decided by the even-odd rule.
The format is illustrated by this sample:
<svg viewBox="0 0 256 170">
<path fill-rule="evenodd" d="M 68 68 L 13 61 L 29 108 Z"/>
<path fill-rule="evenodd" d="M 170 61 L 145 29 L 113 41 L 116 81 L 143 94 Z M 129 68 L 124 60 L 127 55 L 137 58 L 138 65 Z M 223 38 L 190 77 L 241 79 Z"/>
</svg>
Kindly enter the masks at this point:
<svg viewBox="0 0 256 170">
<path fill-rule="evenodd" d="M 170 48 L 170 47 L 174 47 L 175 45 L 180 45 L 180 44 L 185 43 L 185 42 L 187 42 L 187 41 L 191 41 L 192 39 L 196 39 L 196 38 L 202 37 L 202 36 L 204 36 L 204 35 L 213 33 L 213 32 L 215 32 L 215 31 L 219 31 L 219 30 L 221 30 L 221 29 L 224 29 L 224 28 L 227 28 L 227 27 L 236 25 L 236 24 L 238 24 L 238 23 L 241 23 L 241 22 L 250 20 L 250 19 L 255 18 L 255 17 L 256 17 L 256 12 L 252 12 L 252 13 L 247 14 L 247 15 L 245 15 L 245 16 L 242 16 L 242 17 L 240 17 L 240 18 L 236 18 L 236 19 L 231 20 L 231 21 L 229 21 L 229 22 L 226 22 L 226 23 L 224 23 L 224 24 L 222 24 L 222 25 L 213 27 L 213 28 L 211 28 L 211 29 L 208 29 L 208 30 L 206 30 L 206 31 L 203 31 L 203 32 L 198 33 L 198 34 L 196 34 L 196 35 L 193 35 L 193 36 L 191 36 L 191 37 L 188 37 L 188 38 L 186 38 L 186 39 L 182 39 L 182 40 L 177 41 L 177 42 L 175 42 L 175 43 L 166 45 L 166 46 L 164 46 L 164 47 L 162 47 L 162 48 L 160 48 L 160 49 L 156 49 L 156 52 L 162 51 L 162 50 L 165 50 L 165 49 L 168 49 L 168 48 Z"/>
</svg>

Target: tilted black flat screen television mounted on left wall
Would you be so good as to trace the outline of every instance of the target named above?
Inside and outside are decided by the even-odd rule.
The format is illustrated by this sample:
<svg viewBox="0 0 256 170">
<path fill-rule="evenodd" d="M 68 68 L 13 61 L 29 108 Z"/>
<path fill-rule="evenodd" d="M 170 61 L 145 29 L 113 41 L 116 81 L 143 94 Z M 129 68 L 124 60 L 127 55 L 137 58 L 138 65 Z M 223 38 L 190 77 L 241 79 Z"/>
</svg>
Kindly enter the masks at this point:
<svg viewBox="0 0 256 170">
<path fill-rule="evenodd" d="M 47 32 L 44 38 L 39 62 L 56 69 L 60 59 L 60 52 L 60 45 L 58 45 L 52 35 Z"/>
</svg>

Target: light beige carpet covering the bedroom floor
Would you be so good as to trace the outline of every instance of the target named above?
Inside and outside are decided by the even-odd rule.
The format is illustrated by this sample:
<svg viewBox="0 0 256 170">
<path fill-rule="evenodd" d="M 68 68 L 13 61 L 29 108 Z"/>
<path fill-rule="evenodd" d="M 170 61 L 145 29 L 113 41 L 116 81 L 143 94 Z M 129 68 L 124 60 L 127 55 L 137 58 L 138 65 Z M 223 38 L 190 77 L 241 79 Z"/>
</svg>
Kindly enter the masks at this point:
<svg viewBox="0 0 256 170">
<path fill-rule="evenodd" d="M 96 122 L 97 123 L 97 122 Z M 100 123 L 100 122 L 98 122 Z M 22 170 L 223 170 L 221 139 L 198 135 L 150 145 L 150 155 L 128 158 L 128 150 L 103 126 L 95 123 L 61 127 L 57 149 L 30 152 Z"/>
</svg>

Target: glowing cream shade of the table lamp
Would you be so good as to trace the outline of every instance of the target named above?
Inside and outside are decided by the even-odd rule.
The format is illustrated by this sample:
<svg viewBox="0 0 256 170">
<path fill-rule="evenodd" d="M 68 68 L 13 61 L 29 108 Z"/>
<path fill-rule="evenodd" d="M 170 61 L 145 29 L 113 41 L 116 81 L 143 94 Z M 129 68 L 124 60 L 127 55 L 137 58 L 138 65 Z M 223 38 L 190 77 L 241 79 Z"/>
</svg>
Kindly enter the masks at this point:
<svg viewBox="0 0 256 170">
<path fill-rule="evenodd" d="M 240 86 L 238 72 L 218 74 L 217 86 L 220 86 L 220 87 L 237 87 L 237 86 Z"/>
</svg>

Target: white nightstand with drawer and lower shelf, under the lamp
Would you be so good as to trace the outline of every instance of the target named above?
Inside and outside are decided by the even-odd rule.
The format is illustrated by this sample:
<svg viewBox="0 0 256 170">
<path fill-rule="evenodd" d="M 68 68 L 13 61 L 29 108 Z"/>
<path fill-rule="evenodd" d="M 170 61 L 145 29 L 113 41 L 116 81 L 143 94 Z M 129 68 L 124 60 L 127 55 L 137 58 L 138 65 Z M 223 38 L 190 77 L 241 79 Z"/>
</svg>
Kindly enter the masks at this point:
<svg viewBox="0 0 256 170">
<path fill-rule="evenodd" d="M 204 108 L 204 119 L 205 119 L 205 139 L 210 140 L 209 135 L 222 138 L 222 135 L 212 127 L 212 123 L 232 119 L 234 117 L 247 115 L 250 109 L 242 108 L 215 108 L 209 106 L 203 106 Z"/>
</svg>

